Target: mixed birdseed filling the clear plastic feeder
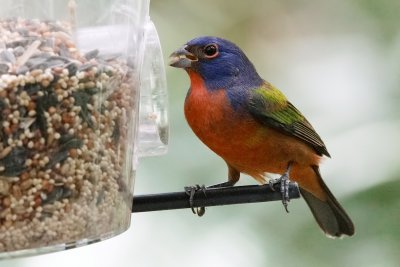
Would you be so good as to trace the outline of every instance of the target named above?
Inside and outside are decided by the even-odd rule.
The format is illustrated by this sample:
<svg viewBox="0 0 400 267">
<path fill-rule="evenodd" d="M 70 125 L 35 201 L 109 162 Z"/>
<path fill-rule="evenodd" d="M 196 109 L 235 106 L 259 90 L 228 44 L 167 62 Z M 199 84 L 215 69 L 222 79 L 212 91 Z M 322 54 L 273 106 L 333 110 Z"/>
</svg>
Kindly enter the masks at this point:
<svg viewBox="0 0 400 267">
<path fill-rule="evenodd" d="M 128 227 L 136 84 L 68 23 L 0 20 L 0 252 Z"/>
</svg>

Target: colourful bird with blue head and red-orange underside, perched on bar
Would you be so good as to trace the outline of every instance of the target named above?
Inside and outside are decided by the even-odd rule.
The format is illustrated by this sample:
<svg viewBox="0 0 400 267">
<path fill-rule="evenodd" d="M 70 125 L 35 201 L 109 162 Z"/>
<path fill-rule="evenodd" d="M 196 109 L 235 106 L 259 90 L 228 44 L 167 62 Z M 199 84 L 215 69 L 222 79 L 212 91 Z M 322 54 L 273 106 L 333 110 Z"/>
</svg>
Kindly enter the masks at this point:
<svg viewBox="0 0 400 267">
<path fill-rule="evenodd" d="M 189 75 L 189 126 L 227 164 L 228 181 L 214 187 L 235 185 L 241 173 L 262 185 L 280 174 L 285 208 L 290 179 L 328 237 L 354 234 L 352 220 L 321 177 L 321 159 L 330 157 L 321 137 L 236 44 L 196 37 L 170 55 L 169 65 Z"/>
</svg>

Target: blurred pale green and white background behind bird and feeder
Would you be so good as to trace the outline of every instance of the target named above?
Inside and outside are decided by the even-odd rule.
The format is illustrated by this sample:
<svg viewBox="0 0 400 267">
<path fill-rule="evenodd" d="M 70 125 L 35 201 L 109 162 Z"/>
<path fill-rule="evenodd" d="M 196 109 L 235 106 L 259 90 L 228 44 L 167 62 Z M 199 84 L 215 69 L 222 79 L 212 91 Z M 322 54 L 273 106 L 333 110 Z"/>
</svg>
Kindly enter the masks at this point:
<svg viewBox="0 0 400 267">
<path fill-rule="evenodd" d="M 399 266 L 400 2 L 152 0 L 165 58 L 189 39 L 238 44 L 263 78 L 315 126 L 332 159 L 325 181 L 356 225 L 331 240 L 303 200 L 134 214 L 126 233 L 1 266 Z M 224 162 L 187 126 L 187 75 L 167 68 L 170 145 L 140 160 L 135 193 L 226 179 Z M 252 184 L 243 177 L 241 184 Z"/>
</svg>

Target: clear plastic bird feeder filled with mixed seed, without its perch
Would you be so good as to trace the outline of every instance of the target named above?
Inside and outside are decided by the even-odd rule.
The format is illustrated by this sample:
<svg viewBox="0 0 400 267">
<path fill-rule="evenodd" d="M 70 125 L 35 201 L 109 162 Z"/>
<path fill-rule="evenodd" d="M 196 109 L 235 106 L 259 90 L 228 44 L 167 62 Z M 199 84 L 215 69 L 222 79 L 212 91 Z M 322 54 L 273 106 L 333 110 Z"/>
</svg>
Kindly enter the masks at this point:
<svg viewBox="0 0 400 267">
<path fill-rule="evenodd" d="M 168 141 L 149 0 L 0 5 L 0 258 L 122 233 L 138 157 Z"/>
</svg>

